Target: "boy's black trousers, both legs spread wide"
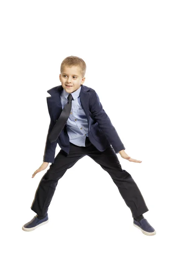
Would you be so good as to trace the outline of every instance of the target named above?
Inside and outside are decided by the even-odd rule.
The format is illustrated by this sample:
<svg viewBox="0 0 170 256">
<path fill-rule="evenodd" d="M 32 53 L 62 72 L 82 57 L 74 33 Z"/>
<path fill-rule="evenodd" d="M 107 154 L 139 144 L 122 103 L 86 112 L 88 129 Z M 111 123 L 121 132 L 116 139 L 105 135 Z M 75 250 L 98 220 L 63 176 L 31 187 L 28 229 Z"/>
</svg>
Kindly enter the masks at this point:
<svg viewBox="0 0 170 256">
<path fill-rule="evenodd" d="M 51 163 L 49 169 L 40 180 L 31 205 L 31 209 L 37 215 L 45 215 L 47 213 L 58 180 L 65 174 L 67 169 L 74 166 L 85 155 L 91 157 L 102 169 L 108 172 L 119 189 L 127 207 L 130 208 L 133 218 L 149 210 L 135 181 L 128 172 L 122 169 L 113 148 L 109 147 L 105 151 L 100 152 L 86 137 L 85 147 L 79 147 L 70 143 L 68 156 L 61 149 L 55 157 L 54 163 Z"/>
</svg>

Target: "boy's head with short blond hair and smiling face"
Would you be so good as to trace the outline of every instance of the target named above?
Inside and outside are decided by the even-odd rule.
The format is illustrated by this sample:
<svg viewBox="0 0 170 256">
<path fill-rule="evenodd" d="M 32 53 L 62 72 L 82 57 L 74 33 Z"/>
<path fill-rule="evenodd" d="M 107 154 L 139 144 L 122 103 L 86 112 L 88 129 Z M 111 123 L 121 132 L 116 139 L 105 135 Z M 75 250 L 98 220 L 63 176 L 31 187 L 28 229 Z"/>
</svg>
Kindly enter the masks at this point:
<svg viewBox="0 0 170 256">
<path fill-rule="evenodd" d="M 85 81 L 86 64 L 76 56 L 66 57 L 61 64 L 59 80 L 63 89 L 68 93 L 74 93 Z M 68 87 L 67 85 L 70 85 Z"/>
</svg>

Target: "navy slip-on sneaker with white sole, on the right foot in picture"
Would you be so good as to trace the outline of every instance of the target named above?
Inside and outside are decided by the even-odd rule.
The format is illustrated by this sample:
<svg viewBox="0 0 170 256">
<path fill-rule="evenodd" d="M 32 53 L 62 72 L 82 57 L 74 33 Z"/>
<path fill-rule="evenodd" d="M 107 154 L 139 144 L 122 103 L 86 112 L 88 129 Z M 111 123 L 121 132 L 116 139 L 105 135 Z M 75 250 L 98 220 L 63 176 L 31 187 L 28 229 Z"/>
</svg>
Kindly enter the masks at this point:
<svg viewBox="0 0 170 256">
<path fill-rule="evenodd" d="M 136 221 L 133 218 L 133 225 L 139 228 L 139 230 L 141 230 L 142 233 L 144 233 L 144 235 L 154 236 L 156 234 L 156 230 L 154 230 L 154 228 L 149 224 L 149 222 L 145 218 L 142 218 L 141 221 Z"/>
</svg>

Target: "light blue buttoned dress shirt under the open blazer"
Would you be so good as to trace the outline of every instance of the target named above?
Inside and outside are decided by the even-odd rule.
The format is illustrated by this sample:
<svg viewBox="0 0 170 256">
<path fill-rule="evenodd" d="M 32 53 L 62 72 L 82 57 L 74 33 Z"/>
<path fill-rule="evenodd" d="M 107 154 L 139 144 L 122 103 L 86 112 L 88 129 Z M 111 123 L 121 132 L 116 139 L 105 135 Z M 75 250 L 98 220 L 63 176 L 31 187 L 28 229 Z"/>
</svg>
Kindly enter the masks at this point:
<svg viewBox="0 0 170 256">
<path fill-rule="evenodd" d="M 71 93 L 73 100 L 70 116 L 66 122 L 66 129 L 71 143 L 85 147 L 85 138 L 86 136 L 88 137 L 88 120 L 80 103 L 80 90 L 81 86 L 74 93 Z M 60 94 L 62 109 L 68 102 L 68 94 L 69 93 L 63 88 Z"/>
</svg>

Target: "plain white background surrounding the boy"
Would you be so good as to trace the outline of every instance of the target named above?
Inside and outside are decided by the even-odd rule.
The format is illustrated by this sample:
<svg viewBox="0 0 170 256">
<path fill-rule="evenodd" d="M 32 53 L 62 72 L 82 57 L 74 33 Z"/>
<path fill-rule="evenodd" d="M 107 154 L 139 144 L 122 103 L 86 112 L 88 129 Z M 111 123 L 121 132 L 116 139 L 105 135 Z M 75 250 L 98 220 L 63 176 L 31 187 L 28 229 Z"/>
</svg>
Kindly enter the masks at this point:
<svg viewBox="0 0 170 256">
<path fill-rule="evenodd" d="M 164 0 L 1 1 L 3 255 L 169 255 L 169 13 Z M 142 161 L 117 154 L 142 192 L 155 236 L 133 226 L 110 175 L 88 156 L 59 180 L 48 224 L 22 230 L 36 215 L 30 207 L 47 170 L 31 178 L 50 122 L 47 90 L 61 84 L 60 64 L 70 55 L 85 61 L 84 85 L 96 90 L 125 152 Z"/>
</svg>

